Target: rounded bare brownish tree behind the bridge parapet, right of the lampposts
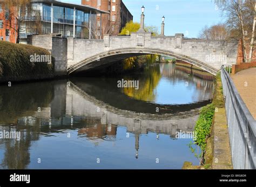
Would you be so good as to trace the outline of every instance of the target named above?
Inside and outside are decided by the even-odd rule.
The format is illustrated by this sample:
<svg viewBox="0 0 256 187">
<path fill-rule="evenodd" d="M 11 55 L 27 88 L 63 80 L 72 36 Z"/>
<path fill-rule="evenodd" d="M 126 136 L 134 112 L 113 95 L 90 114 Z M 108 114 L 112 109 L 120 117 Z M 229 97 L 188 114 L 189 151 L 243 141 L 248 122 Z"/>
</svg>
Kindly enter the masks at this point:
<svg viewBox="0 0 256 187">
<path fill-rule="evenodd" d="M 227 38 L 227 28 L 225 24 L 217 24 L 211 27 L 205 26 L 199 34 L 201 39 L 225 40 Z"/>
</svg>

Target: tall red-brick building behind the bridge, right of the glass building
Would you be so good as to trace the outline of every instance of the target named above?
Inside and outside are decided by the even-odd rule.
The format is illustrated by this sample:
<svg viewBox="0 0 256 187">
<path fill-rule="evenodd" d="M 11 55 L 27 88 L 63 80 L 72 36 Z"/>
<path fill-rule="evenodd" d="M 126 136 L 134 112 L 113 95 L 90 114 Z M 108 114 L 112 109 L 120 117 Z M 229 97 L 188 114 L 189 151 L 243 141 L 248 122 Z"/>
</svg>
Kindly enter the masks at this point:
<svg viewBox="0 0 256 187">
<path fill-rule="evenodd" d="M 117 35 L 127 22 L 133 20 L 122 0 L 82 0 L 82 4 L 110 12 L 110 15 L 103 15 L 102 19 L 97 16 L 97 22 L 102 22 L 103 34 Z"/>
</svg>

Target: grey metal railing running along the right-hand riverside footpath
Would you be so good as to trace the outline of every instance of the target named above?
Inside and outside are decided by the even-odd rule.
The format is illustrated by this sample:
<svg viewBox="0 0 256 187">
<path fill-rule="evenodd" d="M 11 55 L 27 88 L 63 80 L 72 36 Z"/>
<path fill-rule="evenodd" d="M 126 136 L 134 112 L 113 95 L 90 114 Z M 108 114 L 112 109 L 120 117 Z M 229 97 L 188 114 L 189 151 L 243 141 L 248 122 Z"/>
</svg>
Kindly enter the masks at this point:
<svg viewBox="0 0 256 187">
<path fill-rule="evenodd" d="M 233 168 L 256 169 L 256 121 L 241 99 L 224 66 L 221 67 L 221 82 L 225 97 Z"/>
</svg>

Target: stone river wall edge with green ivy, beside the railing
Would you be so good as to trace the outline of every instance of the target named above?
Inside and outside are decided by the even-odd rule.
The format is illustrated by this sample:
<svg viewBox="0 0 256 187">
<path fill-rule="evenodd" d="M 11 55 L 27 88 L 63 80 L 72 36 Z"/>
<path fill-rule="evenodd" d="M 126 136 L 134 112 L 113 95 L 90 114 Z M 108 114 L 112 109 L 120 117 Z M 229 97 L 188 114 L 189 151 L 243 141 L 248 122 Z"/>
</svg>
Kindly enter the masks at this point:
<svg viewBox="0 0 256 187">
<path fill-rule="evenodd" d="M 183 169 L 233 169 L 220 73 L 215 78 L 212 103 L 201 108 L 195 131 L 202 149 L 201 163 L 184 162 Z"/>
</svg>

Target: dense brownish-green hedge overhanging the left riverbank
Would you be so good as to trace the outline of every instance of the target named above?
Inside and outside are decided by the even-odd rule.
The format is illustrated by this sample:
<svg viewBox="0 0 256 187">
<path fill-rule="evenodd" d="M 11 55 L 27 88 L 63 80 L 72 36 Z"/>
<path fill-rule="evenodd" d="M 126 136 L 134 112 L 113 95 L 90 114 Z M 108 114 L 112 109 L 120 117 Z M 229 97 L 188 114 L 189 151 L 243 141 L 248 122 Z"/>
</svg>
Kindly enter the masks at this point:
<svg viewBox="0 0 256 187">
<path fill-rule="evenodd" d="M 42 77 L 51 77 L 54 74 L 54 58 L 52 64 L 31 63 L 33 54 L 50 54 L 40 47 L 24 44 L 12 44 L 0 41 L 0 81 L 8 80 L 32 80 Z"/>
</svg>

